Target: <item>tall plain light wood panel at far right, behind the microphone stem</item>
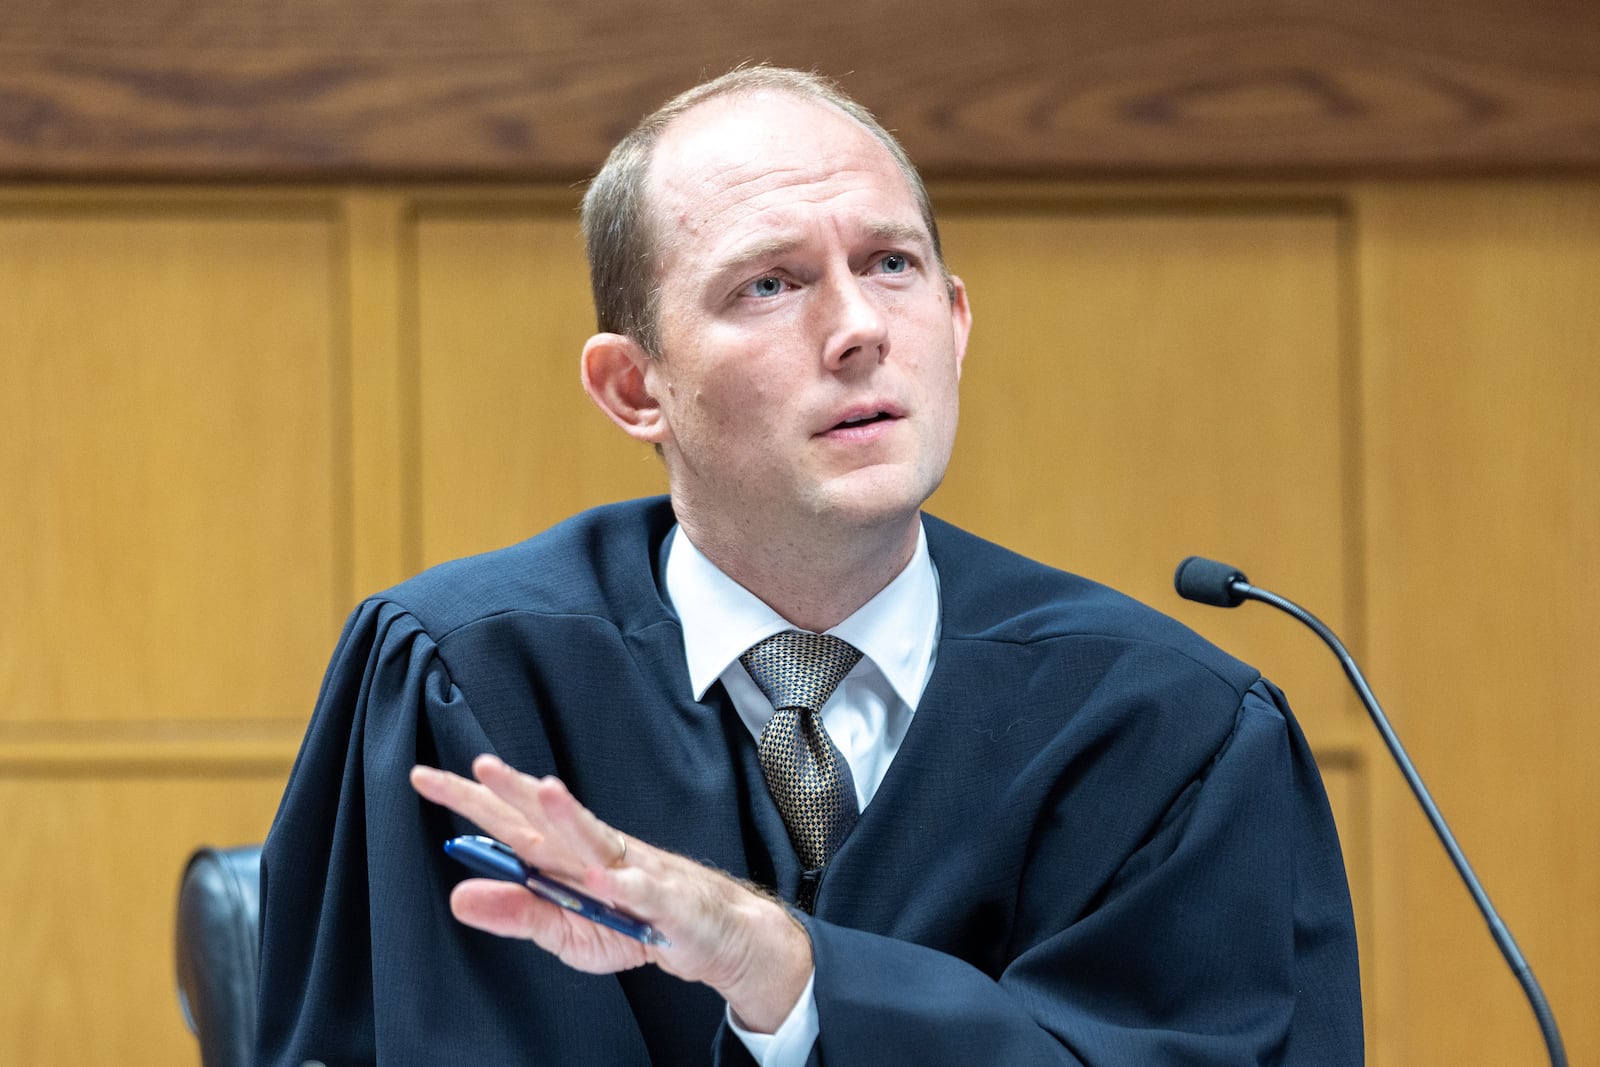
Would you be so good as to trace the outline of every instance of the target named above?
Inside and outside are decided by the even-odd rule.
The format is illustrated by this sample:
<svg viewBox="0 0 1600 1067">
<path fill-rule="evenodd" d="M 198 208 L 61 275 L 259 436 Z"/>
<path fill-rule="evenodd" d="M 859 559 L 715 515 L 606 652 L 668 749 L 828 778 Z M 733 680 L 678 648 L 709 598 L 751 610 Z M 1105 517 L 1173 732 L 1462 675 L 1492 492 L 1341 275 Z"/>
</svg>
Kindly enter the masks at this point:
<svg viewBox="0 0 1600 1067">
<path fill-rule="evenodd" d="M 1600 186 L 1360 195 L 1371 672 L 1600 1061 Z M 1379 779 L 1386 1062 L 1542 1046 L 1443 851 Z"/>
</svg>

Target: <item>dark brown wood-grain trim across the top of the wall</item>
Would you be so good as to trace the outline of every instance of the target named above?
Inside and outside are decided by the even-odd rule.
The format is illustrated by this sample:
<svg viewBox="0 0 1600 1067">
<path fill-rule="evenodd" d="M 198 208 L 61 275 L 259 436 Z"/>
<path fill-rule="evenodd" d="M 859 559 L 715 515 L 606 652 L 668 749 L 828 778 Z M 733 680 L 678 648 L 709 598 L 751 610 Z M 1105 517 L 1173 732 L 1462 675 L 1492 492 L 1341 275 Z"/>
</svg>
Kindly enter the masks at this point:
<svg viewBox="0 0 1600 1067">
<path fill-rule="evenodd" d="M 739 61 L 936 178 L 1600 174 L 1592 0 L 0 0 L 0 178 L 578 179 Z"/>
</svg>

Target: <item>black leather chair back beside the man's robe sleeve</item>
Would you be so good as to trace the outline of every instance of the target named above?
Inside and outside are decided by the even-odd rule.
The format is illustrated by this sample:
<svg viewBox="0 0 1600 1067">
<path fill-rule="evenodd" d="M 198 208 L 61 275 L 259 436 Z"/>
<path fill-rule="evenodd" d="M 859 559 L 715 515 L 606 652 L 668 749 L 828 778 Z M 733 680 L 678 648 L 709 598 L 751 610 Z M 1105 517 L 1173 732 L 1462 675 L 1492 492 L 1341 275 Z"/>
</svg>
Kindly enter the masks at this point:
<svg viewBox="0 0 1600 1067">
<path fill-rule="evenodd" d="M 261 846 L 200 848 L 178 888 L 178 1003 L 205 1067 L 248 1067 L 256 1041 Z"/>
</svg>

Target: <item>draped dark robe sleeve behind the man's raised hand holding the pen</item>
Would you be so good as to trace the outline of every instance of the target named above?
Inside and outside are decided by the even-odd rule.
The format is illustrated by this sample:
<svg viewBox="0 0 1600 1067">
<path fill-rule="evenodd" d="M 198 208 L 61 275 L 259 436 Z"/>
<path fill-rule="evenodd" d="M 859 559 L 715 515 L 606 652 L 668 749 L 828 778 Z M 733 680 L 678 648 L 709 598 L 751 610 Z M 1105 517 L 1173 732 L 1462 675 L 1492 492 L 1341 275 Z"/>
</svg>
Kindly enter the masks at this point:
<svg viewBox="0 0 1600 1067">
<path fill-rule="evenodd" d="M 406 773 L 493 750 L 418 619 L 358 608 L 262 851 L 256 1064 L 648 1062 L 614 979 L 450 915 L 470 829 Z"/>
</svg>

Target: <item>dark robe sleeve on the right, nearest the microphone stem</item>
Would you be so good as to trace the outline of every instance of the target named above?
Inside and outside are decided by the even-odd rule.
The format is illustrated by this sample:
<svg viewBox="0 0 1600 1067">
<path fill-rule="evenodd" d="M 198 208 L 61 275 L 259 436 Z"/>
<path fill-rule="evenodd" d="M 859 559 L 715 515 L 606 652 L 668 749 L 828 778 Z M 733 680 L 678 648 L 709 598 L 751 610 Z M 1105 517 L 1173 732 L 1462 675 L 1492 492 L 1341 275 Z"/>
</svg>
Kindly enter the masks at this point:
<svg viewBox="0 0 1600 1067">
<path fill-rule="evenodd" d="M 808 918 L 821 1024 L 811 1062 L 1358 1064 L 1342 861 L 1280 701 L 1256 683 L 1221 750 L 1094 904 L 1061 915 L 998 981 Z M 1029 862 L 1030 880 L 1048 885 L 1051 865 L 1072 862 L 1070 843 L 1042 840 Z"/>
</svg>

